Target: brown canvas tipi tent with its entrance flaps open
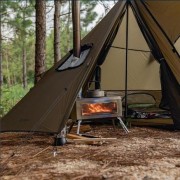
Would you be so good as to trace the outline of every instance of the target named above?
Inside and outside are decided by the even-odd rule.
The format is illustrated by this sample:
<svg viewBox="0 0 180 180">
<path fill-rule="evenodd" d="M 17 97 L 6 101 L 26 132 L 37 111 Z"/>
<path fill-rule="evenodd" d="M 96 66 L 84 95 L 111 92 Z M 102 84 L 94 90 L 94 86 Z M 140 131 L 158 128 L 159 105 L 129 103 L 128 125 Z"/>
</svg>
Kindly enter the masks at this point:
<svg viewBox="0 0 180 180">
<path fill-rule="evenodd" d="M 72 51 L 67 53 L 1 119 L 0 131 L 59 133 L 97 66 L 103 90 L 124 90 L 125 73 L 128 90 L 161 90 L 161 107 L 170 109 L 180 129 L 179 9 L 176 0 L 119 1 L 81 41 L 79 64 L 69 64 Z"/>
</svg>

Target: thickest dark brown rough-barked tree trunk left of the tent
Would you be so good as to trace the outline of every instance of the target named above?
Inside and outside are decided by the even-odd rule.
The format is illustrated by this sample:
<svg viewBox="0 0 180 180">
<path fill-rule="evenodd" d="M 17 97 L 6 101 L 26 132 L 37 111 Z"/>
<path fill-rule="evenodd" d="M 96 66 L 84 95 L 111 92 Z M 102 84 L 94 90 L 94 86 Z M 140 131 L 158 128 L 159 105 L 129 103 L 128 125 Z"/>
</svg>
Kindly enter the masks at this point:
<svg viewBox="0 0 180 180">
<path fill-rule="evenodd" d="M 36 44 L 35 44 L 35 79 L 36 84 L 45 71 L 46 50 L 46 1 L 36 0 Z"/>
</svg>

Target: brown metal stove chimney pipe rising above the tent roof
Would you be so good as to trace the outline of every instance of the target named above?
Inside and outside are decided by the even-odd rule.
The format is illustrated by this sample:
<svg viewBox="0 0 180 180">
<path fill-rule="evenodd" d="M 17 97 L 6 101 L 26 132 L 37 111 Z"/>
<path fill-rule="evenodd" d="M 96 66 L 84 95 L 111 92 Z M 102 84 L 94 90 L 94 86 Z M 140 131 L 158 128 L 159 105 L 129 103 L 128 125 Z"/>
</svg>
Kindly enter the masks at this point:
<svg viewBox="0 0 180 180">
<path fill-rule="evenodd" d="M 80 0 L 72 1 L 72 20 L 73 20 L 73 55 L 80 58 Z"/>
</svg>

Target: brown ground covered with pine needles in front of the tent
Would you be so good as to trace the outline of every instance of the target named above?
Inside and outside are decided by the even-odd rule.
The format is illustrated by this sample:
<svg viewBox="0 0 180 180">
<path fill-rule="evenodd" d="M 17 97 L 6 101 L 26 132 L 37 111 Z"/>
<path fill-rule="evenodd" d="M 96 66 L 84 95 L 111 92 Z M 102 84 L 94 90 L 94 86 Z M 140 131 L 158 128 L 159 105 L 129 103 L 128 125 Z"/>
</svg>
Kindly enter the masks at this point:
<svg viewBox="0 0 180 180">
<path fill-rule="evenodd" d="M 180 180 L 180 132 L 96 125 L 89 133 L 117 140 L 55 148 L 50 135 L 0 134 L 0 179 Z"/>
</svg>

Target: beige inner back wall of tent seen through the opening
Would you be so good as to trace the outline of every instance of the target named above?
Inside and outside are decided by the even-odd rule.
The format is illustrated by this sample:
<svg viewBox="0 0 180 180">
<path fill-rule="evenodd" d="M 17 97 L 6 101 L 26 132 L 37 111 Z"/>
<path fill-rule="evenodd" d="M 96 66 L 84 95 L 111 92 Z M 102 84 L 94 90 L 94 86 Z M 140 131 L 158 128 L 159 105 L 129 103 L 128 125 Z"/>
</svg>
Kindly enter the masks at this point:
<svg viewBox="0 0 180 180">
<path fill-rule="evenodd" d="M 128 90 L 160 90 L 159 64 L 143 37 L 132 9 L 128 22 Z M 102 89 L 125 89 L 126 14 L 102 64 Z"/>
</svg>

